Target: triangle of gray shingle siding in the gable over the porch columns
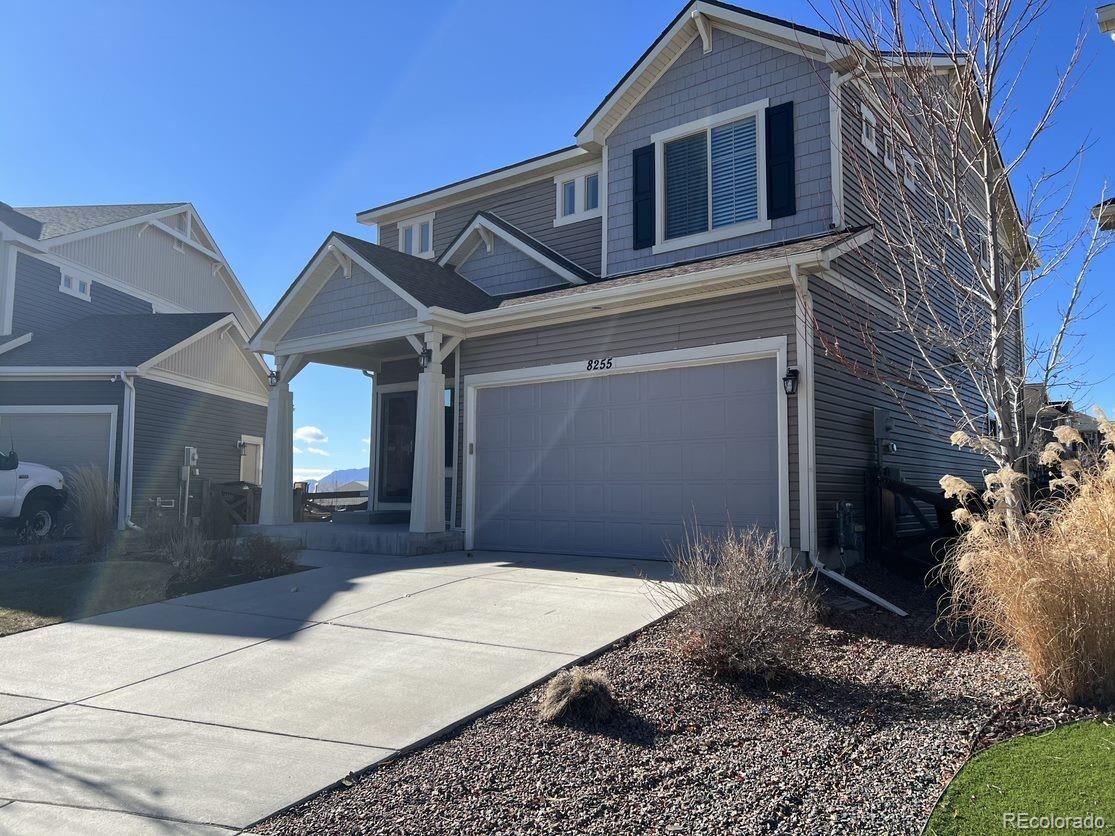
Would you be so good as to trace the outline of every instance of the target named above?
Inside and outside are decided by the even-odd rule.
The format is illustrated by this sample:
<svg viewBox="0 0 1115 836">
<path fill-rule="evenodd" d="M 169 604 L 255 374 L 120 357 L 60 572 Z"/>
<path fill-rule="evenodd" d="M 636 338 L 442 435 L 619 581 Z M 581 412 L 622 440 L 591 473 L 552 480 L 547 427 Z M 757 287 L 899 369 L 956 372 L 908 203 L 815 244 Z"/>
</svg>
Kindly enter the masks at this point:
<svg viewBox="0 0 1115 836">
<path fill-rule="evenodd" d="M 363 325 L 398 322 L 415 315 L 414 308 L 360 265 L 352 265 L 352 275 L 348 279 L 338 266 L 283 339 L 319 337 Z"/>
</svg>

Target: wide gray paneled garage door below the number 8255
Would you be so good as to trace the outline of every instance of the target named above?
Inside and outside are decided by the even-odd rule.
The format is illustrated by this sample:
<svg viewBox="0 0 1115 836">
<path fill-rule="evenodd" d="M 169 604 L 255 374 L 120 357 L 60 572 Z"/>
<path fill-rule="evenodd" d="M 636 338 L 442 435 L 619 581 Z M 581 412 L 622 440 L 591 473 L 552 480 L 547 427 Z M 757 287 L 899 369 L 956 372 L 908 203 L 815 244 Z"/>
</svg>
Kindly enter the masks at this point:
<svg viewBox="0 0 1115 836">
<path fill-rule="evenodd" d="M 476 390 L 474 546 L 658 557 L 777 529 L 773 358 Z"/>
</svg>

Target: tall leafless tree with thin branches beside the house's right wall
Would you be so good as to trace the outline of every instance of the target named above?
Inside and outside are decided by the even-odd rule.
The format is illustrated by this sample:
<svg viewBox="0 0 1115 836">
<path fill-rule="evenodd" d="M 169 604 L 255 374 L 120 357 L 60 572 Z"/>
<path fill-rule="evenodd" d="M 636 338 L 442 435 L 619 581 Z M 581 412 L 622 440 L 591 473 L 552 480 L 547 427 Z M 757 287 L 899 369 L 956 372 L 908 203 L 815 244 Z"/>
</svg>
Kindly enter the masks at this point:
<svg viewBox="0 0 1115 836">
<path fill-rule="evenodd" d="M 1105 244 L 1089 218 L 1068 214 L 1086 140 L 1041 166 L 1025 194 L 1012 186 L 1035 167 L 1073 93 L 1083 36 L 1024 124 L 1020 111 L 1034 109 L 1036 95 L 1024 76 L 1053 0 L 833 3 L 833 26 L 852 45 L 852 82 L 837 95 L 860 96 L 870 110 L 862 118 L 875 117 L 865 128 L 875 153 L 845 157 L 849 187 L 875 225 L 857 257 L 895 314 L 860 323 L 869 363 L 849 360 L 838 344 L 826 350 L 899 401 L 910 390 L 928 393 L 951 419 L 952 443 L 988 456 L 1011 488 L 1009 518 L 1024 496 L 1015 473 L 1029 453 L 1024 386 L 1070 382 L 1075 329 L 1088 311 L 1084 280 Z M 1025 344 L 1024 308 L 1044 293 L 1063 294 L 1059 327 Z M 917 360 L 891 360 L 875 344 L 880 328 L 912 342 Z"/>
</svg>

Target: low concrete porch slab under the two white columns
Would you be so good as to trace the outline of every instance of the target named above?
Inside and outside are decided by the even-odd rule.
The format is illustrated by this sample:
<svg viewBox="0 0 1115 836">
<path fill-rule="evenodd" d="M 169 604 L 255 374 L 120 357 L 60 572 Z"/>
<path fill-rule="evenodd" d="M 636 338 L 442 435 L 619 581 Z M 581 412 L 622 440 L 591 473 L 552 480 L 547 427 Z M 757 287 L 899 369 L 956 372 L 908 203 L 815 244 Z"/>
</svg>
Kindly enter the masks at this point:
<svg viewBox="0 0 1115 836">
<path fill-rule="evenodd" d="M 337 525 L 333 523 L 292 523 L 290 525 L 239 525 L 241 536 L 297 539 L 303 548 L 355 554 L 391 554 L 411 557 L 419 554 L 459 552 L 465 547 L 464 532 L 413 534 L 406 525 Z"/>
</svg>

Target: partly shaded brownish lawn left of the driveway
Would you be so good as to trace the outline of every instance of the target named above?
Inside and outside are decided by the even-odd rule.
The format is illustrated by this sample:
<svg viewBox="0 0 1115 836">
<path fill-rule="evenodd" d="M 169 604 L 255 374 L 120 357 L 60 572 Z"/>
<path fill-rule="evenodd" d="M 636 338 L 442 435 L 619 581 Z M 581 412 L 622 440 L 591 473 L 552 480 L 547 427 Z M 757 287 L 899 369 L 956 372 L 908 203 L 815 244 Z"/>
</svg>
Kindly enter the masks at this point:
<svg viewBox="0 0 1115 836">
<path fill-rule="evenodd" d="M 0 635 L 166 597 L 174 568 L 151 561 L 21 566 L 0 572 Z"/>
</svg>

